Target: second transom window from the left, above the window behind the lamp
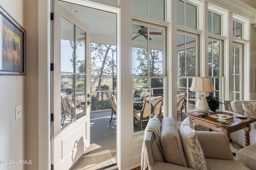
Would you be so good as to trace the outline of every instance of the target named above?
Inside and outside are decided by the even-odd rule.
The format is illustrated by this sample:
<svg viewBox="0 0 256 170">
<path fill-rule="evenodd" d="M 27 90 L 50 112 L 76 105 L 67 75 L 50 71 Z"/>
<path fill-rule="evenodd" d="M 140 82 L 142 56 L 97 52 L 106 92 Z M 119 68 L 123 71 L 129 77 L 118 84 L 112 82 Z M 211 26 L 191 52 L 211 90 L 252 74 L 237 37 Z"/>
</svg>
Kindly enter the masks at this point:
<svg viewBox="0 0 256 170">
<path fill-rule="evenodd" d="M 177 24 L 197 29 L 197 6 L 177 0 Z"/>
</svg>

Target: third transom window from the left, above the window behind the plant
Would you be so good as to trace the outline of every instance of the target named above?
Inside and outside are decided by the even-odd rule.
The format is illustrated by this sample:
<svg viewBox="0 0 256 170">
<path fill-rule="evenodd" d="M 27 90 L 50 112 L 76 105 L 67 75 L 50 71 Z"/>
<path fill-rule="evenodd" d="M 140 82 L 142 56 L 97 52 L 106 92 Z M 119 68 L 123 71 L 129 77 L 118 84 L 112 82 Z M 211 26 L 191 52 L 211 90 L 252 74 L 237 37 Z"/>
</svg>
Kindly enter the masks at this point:
<svg viewBox="0 0 256 170">
<path fill-rule="evenodd" d="M 221 35 L 221 15 L 208 11 L 208 32 Z"/>
</svg>

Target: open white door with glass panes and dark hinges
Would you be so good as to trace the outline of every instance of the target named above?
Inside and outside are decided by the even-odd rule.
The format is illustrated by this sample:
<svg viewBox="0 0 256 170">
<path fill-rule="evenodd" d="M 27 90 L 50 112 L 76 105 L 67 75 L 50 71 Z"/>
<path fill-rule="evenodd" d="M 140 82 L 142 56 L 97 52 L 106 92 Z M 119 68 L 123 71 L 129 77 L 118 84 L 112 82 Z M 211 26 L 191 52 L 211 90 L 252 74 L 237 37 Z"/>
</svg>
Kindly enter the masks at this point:
<svg viewBox="0 0 256 170">
<path fill-rule="evenodd" d="M 89 29 L 54 2 L 51 164 L 68 170 L 90 145 Z"/>
</svg>

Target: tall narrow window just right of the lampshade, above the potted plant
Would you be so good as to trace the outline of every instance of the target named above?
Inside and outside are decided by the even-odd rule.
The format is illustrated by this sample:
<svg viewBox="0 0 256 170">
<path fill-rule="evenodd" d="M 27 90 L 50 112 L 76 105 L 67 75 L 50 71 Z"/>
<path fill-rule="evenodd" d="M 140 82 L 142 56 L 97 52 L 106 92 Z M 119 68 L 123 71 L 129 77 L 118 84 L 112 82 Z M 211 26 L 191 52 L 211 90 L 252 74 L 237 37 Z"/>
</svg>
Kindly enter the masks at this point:
<svg viewBox="0 0 256 170">
<path fill-rule="evenodd" d="M 208 76 L 213 77 L 215 89 L 213 95 L 222 100 L 222 41 L 209 38 L 208 40 Z"/>
</svg>

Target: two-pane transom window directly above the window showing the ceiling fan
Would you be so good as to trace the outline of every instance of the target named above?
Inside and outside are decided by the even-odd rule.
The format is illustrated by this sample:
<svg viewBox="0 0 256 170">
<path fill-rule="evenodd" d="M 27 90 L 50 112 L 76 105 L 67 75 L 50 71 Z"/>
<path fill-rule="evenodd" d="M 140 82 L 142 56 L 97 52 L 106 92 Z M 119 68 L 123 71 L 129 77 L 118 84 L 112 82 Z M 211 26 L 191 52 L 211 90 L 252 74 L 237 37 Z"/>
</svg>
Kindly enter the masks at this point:
<svg viewBox="0 0 256 170">
<path fill-rule="evenodd" d="M 165 20 L 164 0 L 132 0 L 132 12 L 159 20 Z"/>
</svg>

